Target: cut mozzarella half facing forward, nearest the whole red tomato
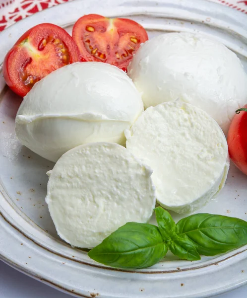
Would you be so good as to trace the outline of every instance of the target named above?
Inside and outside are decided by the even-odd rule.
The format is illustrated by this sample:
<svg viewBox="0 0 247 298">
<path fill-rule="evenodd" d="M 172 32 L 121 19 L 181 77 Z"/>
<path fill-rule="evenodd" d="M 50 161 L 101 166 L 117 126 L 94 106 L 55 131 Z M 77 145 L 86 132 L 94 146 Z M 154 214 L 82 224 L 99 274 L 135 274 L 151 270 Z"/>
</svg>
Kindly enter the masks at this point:
<svg viewBox="0 0 247 298">
<path fill-rule="evenodd" d="M 126 148 L 153 169 L 156 198 L 163 207 L 192 213 L 224 186 L 226 138 L 201 109 L 179 101 L 149 107 L 125 135 Z"/>
</svg>

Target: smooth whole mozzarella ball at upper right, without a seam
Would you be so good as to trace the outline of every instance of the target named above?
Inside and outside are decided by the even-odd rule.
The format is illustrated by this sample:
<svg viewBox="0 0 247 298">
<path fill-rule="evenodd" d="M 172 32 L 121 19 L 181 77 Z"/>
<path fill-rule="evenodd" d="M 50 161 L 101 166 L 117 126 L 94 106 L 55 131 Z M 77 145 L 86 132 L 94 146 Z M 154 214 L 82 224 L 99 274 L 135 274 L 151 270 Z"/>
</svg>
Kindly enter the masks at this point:
<svg viewBox="0 0 247 298">
<path fill-rule="evenodd" d="M 201 34 L 167 33 L 145 42 L 128 74 L 144 107 L 178 98 L 213 117 L 227 134 L 235 111 L 247 103 L 247 74 L 223 44 Z"/>
</svg>

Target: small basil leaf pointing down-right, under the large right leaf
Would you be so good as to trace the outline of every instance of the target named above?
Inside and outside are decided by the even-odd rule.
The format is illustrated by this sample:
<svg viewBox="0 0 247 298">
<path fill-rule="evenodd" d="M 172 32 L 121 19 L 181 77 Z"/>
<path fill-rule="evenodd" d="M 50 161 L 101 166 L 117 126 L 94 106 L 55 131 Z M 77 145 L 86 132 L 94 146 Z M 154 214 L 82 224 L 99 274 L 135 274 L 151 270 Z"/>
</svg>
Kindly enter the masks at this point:
<svg viewBox="0 0 247 298">
<path fill-rule="evenodd" d="M 193 242 L 185 235 L 173 236 L 166 244 L 174 255 L 183 260 L 197 261 L 201 259 Z"/>
</svg>

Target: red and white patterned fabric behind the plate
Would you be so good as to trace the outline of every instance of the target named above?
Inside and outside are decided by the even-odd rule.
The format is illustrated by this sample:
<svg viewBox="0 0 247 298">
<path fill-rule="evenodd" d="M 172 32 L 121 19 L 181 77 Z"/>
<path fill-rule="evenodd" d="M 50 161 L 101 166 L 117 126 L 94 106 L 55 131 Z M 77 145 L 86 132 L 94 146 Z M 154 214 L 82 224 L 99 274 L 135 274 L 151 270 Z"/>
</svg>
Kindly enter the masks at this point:
<svg viewBox="0 0 247 298">
<path fill-rule="evenodd" d="M 70 0 L 0 0 L 0 31 L 35 12 L 67 1 Z M 247 1 L 211 1 L 228 5 L 247 14 Z"/>
</svg>

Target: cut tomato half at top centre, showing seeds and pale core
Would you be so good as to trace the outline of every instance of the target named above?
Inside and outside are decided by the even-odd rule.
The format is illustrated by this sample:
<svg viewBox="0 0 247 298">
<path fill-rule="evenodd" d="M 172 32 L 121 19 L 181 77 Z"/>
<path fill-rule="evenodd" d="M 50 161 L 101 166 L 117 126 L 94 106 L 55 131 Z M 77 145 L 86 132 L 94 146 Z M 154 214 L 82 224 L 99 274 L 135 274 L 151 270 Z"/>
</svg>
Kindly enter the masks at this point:
<svg viewBox="0 0 247 298">
<path fill-rule="evenodd" d="M 126 70 L 134 52 L 148 40 L 146 30 L 125 18 L 84 15 L 74 24 L 72 37 L 82 61 L 105 62 Z"/>
</svg>

